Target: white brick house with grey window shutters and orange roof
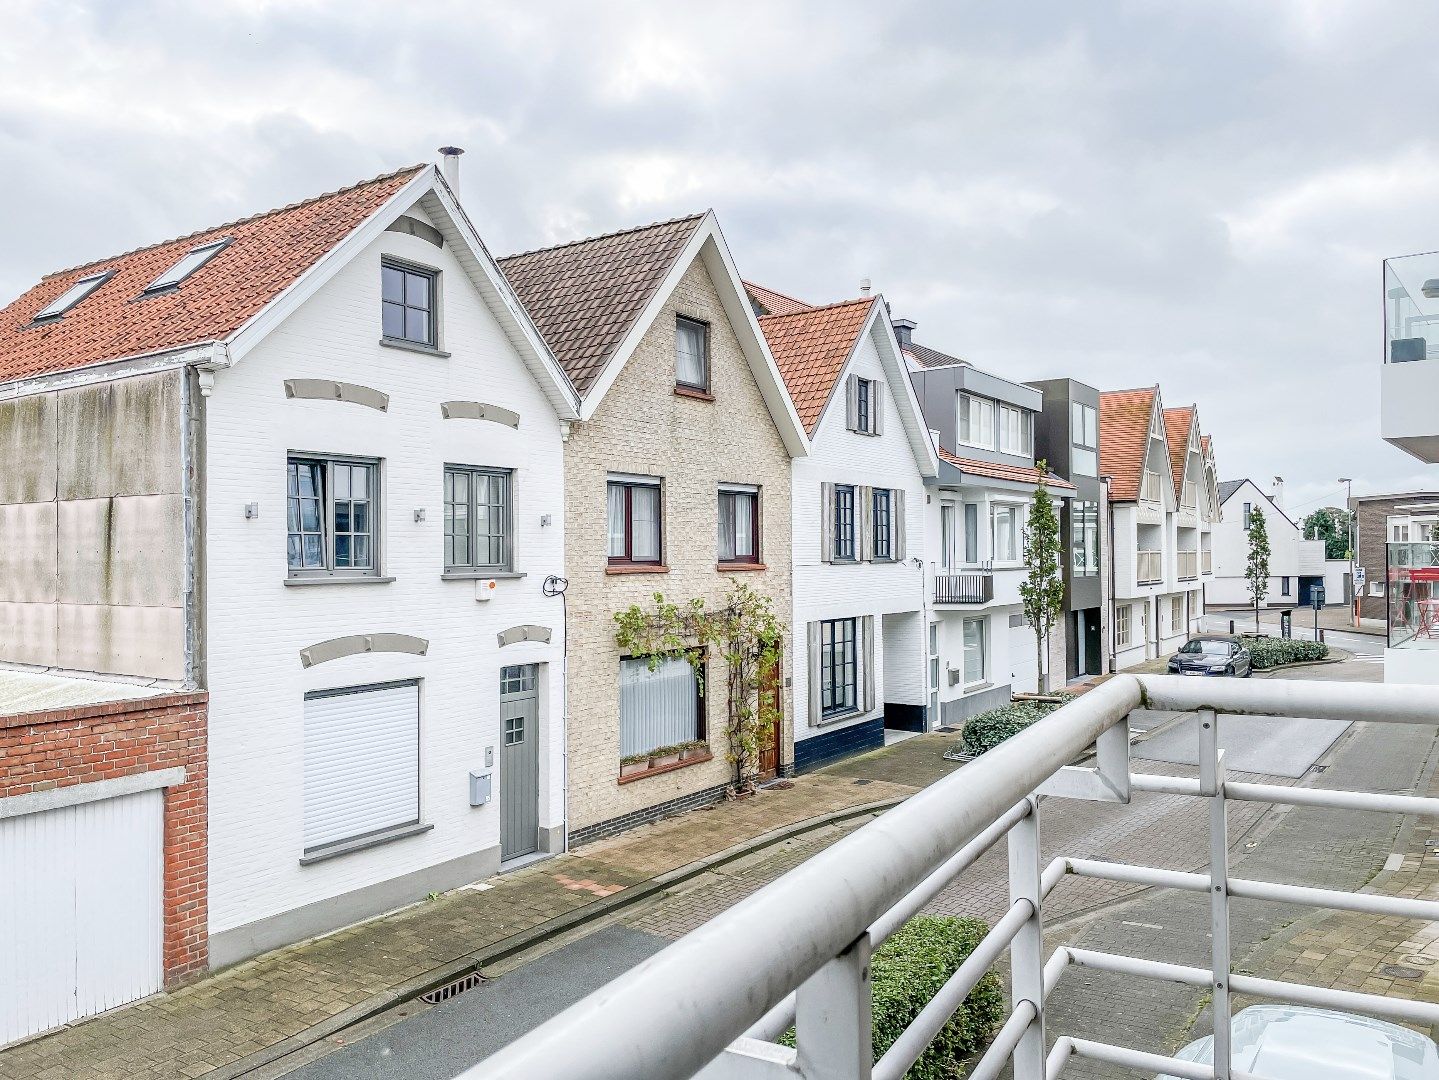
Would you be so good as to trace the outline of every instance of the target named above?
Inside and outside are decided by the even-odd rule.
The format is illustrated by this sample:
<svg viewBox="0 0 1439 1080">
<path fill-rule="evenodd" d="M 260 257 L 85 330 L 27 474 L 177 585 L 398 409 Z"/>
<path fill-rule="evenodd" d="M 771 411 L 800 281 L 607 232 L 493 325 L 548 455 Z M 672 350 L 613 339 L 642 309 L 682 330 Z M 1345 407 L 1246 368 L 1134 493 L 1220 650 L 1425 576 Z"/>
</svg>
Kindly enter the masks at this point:
<svg viewBox="0 0 1439 1080">
<path fill-rule="evenodd" d="M 768 290 L 753 290 L 760 311 Z M 794 766 L 925 731 L 925 483 L 938 459 L 882 298 L 760 319 L 810 434 L 794 460 Z"/>
</svg>

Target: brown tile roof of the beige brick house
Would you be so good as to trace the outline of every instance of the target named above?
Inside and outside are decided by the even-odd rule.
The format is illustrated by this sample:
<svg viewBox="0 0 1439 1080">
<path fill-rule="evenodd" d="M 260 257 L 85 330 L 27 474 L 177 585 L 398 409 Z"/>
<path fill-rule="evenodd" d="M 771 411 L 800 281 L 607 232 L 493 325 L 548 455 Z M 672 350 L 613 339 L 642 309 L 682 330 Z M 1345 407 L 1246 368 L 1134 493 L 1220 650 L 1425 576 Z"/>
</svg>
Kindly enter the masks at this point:
<svg viewBox="0 0 1439 1080">
<path fill-rule="evenodd" d="M 704 217 L 676 217 L 499 260 L 581 395 L 590 393 Z"/>
</svg>

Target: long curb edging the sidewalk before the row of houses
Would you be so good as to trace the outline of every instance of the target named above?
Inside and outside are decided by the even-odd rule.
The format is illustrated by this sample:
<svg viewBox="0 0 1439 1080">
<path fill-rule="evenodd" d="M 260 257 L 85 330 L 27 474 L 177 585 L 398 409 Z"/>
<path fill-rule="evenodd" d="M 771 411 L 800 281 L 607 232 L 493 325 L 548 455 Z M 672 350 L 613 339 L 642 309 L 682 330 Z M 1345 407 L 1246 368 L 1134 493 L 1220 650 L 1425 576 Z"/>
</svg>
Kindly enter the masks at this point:
<svg viewBox="0 0 1439 1080">
<path fill-rule="evenodd" d="M 743 859 L 744 856 L 771 847 L 784 840 L 803 836 L 804 833 L 812 833 L 816 828 L 823 828 L 825 825 L 889 810 L 891 807 L 896 807 L 904 802 L 905 798 L 908 798 L 908 795 L 904 798 L 879 800 L 878 802 L 862 802 L 859 805 L 830 811 L 829 814 L 820 814 L 819 817 L 804 818 L 803 821 L 796 821 L 781 828 L 761 833 L 760 836 L 744 840 L 738 844 L 732 844 L 721 851 L 715 851 L 712 856 L 705 856 L 704 859 L 696 859 L 695 861 L 675 867 L 673 870 L 666 870 L 662 874 L 650 877 L 648 882 L 640 882 L 639 884 L 632 884 L 629 889 L 613 893 L 612 896 L 603 896 L 591 900 L 590 903 L 576 907 L 573 912 L 558 915 L 554 919 L 548 919 L 538 926 L 531 926 L 528 930 L 522 930 L 514 936 L 502 938 L 501 941 L 486 945 L 476 952 L 456 956 L 452 961 L 439 964 L 412 979 L 406 979 L 396 987 L 390 987 L 389 989 L 376 994 L 368 1001 L 361 1001 L 358 1005 L 351 1005 L 344 1012 L 337 1012 L 334 1017 L 330 1017 L 330 1020 L 324 1020 L 314 1027 L 308 1027 L 298 1034 L 275 1043 L 273 1045 L 256 1050 L 248 1057 L 230 1061 L 227 1066 L 220 1066 L 219 1068 L 204 1073 L 203 1076 L 206 1080 L 236 1080 L 236 1077 L 242 1077 L 256 1068 L 275 1064 L 281 1058 L 305 1050 L 307 1047 L 314 1045 L 324 1038 L 330 1038 L 345 1028 L 354 1027 L 355 1024 L 370 1020 L 386 1010 L 417 998 L 420 994 L 427 994 L 436 987 L 443 987 L 446 982 L 469 975 L 471 972 L 478 972 L 481 968 L 486 968 L 492 964 L 508 959 L 509 956 L 525 952 L 548 938 L 567 933 L 577 926 L 610 916 L 623 907 L 646 900 L 656 893 L 662 893 L 666 889 L 682 884 L 684 882 L 708 873 L 718 866 L 732 863 L 737 859 Z"/>
</svg>

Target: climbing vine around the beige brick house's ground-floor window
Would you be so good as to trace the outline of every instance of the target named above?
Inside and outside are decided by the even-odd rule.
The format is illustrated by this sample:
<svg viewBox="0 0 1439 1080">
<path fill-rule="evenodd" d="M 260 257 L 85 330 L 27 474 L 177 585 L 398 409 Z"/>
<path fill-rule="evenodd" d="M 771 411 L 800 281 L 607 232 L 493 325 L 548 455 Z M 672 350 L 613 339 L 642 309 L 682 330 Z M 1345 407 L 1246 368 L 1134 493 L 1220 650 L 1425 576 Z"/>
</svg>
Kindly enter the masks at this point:
<svg viewBox="0 0 1439 1080">
<path fill-rule="evenodd" d="M 770 598 L 743 581 L 730 585 L 718 607 L 708 607 L 699 597 L 676 604 L 656 592 L 648 607 L 632 604 L 617 611 L 614 626 L 619 647 L 649 657 L 652 672 L 665 660 L 688 662 L 701 692 L 707 657 L 714 653 L 724 662 L 730 791 L 732 795 L 753 791 L 760 752 L 770 749 L 780 718 L 780 687 L 768 680 L 778 669 L 784 627 Z"/>
</svg>

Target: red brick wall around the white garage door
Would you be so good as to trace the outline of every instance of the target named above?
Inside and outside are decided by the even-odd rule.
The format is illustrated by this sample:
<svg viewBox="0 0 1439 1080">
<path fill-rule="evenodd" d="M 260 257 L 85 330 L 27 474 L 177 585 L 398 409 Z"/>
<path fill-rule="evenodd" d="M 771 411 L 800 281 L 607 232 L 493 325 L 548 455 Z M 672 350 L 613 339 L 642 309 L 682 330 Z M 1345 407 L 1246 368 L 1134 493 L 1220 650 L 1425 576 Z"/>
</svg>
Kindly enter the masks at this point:
<svg viewBox="0 0 1439 1080">
<path fill-rule="evenodd" d="M 0 716 L 0 798 L 184 766 L 165 788 L 165 982 L 204 971 L 206 693 Z"/>
</svg>

